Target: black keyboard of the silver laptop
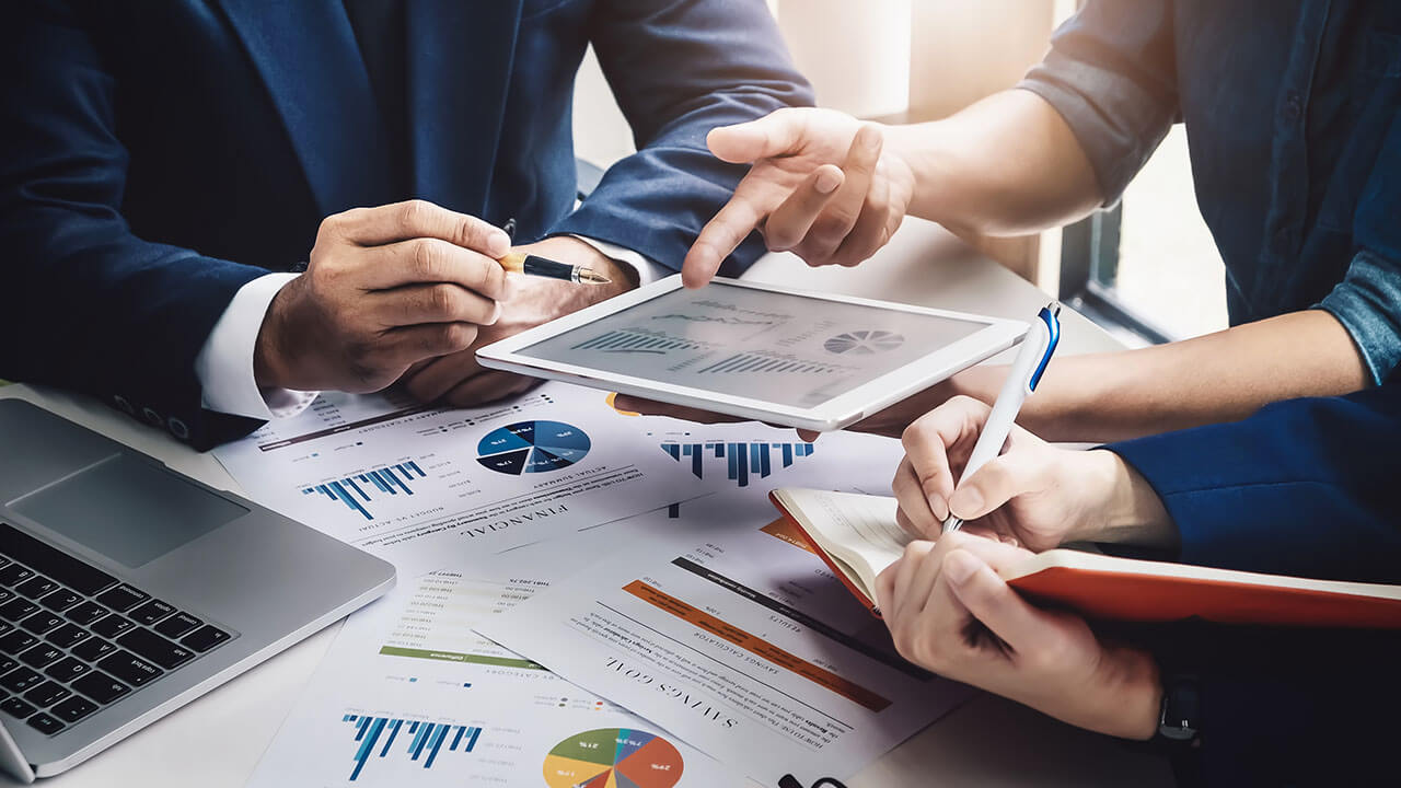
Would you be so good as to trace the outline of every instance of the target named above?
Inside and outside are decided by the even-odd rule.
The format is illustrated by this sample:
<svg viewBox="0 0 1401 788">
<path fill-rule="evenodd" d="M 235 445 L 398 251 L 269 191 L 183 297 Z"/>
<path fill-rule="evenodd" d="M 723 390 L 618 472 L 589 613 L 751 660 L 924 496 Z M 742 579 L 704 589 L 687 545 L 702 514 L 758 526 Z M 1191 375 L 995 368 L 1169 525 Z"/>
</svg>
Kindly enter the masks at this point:
<svg viewBox="0 0 1401 788">
<path fill-rule="evenodd" d="M 0 712 L 55 735 L 230 634 L 0 523 Z"/>
</svg>

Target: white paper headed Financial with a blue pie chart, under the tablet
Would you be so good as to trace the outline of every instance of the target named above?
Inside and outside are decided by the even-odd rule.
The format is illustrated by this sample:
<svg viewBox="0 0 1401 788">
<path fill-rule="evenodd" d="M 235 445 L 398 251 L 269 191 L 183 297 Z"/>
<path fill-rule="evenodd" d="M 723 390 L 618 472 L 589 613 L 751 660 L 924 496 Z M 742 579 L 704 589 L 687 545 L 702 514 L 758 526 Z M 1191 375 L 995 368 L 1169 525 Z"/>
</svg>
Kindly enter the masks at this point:
<svg viewBox="0 0 1401 788">
<path fill-rule="evenodd" d="M 654 422 L 563 383 L 485 408 L 326 393 L 214 456 L 249 498 L 415 576 L 706 492 Z"/>
</svg>

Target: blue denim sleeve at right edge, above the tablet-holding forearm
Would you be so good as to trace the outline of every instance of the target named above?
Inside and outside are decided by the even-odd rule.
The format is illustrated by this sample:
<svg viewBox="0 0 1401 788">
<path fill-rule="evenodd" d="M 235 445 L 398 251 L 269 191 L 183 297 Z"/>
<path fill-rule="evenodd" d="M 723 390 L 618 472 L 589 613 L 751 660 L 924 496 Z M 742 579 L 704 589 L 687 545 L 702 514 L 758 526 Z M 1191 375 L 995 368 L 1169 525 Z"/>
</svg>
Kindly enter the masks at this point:
<svg viewBox="0 0 1401 788">
<path fill-rule="evenodd" d="M 1352 237 L 1359 251 L 1318 307 L 1352 334 L 1372 381 L 1380 384 L 1401 366 L 1401 111 L 1362 189 Z"/>
</svg>

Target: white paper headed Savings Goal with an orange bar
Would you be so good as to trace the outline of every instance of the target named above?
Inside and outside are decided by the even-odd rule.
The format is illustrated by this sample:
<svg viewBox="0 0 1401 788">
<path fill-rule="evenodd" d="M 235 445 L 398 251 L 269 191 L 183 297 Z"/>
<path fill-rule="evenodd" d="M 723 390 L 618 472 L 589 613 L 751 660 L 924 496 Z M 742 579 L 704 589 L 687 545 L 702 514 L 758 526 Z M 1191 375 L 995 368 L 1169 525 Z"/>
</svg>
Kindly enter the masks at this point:
<svg viewBox="0 0 1401 788">
<path fill-rule="evenodd" d="M 689 544 L 597 564 L 478 630 L 766 785 L 848 777 L 969 697 L 901 659 L 762 498 L 700 501 L 681 510 Z"/>
</svg>

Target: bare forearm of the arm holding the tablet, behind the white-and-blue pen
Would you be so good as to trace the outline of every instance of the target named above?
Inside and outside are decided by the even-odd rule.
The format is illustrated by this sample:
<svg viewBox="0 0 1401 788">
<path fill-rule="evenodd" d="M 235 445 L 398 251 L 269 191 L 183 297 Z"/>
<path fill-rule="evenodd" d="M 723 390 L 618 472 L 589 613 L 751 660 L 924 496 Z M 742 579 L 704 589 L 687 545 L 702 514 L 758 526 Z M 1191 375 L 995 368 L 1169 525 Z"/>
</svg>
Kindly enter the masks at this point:
<svg viewBox="0 0 1401 788">
<path fill-rule="evenodd" d="M 953 388 L 992 402 L 1005 374 L 975 367 Z M 1019 423 L 1047 440 L 1126 440 L 1241 419 L 1281 400 L 1348 394 L 1369 380 L 1348 331 L 1309 310 L 1168 345 L 1058 358 Z"/>
</svg>

